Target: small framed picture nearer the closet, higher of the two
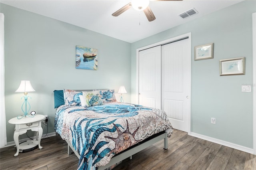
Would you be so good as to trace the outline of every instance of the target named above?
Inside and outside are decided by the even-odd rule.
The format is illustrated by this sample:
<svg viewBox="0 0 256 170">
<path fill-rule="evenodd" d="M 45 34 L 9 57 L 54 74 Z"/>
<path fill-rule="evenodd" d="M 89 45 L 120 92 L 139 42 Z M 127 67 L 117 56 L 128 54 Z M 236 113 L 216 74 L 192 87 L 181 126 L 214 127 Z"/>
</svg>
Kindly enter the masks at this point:
<svg viewBox="0 0 256 170">
<path fill-rule="evenodd" d="M 195 47 L 195 60 L 213 58 L 213 43 Z"/>
</svg>

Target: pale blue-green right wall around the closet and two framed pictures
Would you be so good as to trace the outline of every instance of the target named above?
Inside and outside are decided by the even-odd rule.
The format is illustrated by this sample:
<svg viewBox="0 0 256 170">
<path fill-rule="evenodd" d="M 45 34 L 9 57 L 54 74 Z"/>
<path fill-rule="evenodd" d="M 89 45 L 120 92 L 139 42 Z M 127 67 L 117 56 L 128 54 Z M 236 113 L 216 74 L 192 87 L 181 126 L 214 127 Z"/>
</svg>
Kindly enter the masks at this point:
<svg viewBox="0 0 256 170">
<path fill-rule="evenodd" d="M 200 11 L 199 11 L 200 12 Z M 136 49 L 182 34 L 192 34 L 191 131 L 253 148 L 252 13 L 244 1 L 132 43 L 132 102 L 136 101 Z M 194 46 L 214 43 L 214 59 L 194 61 Z M 219 76 L 219 60 L 245 57 L 245 75 Z M 253 89 L 254 90 L 254 89 Z M 210 123 L 216 118 L 216 125 Z"/>
</svg>

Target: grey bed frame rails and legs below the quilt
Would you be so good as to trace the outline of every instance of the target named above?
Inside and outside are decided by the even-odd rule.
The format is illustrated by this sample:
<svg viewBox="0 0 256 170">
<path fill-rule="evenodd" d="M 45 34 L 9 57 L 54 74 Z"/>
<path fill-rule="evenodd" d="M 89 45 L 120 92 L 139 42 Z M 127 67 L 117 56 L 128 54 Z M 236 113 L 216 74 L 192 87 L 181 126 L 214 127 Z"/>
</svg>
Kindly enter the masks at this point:
<svg viewBox="0 0 256 170">
<path fill-rule="evenodd" d="M 130 157 L 130 159 L 132 159 L 132 155 L 140 152 L 141 150 L 147 148 L 148 146 L 151 146 L 152 144 L 154 144 L 162 139 L 164 139 L 164 149 L 167 150 L 168 149 L 168 136 L 167 136 L 167 132 L 164 132 L 163 134 L 160 134 L 160 135 L 158 135 L 146 142 L 143 142 L 137 146 L 134 146 L 130 149 L 128 148 L 127 150 L 125 150 L 124 152 L 121 152 L 117 156 L 112 157 L 110 162 L 108 162 L 108 164 L 106 164 L 105 166 L 98 167 L 98 170 L 105 170 L 106 168 L 108 168 L 108 167 L 128 158 L 128 157 Z M 74 149 L 72 144 L 68 140 L 66 140 L 66 142 L 68 143 L 68 154 L 69 155 L 72 154 L 72 151 L 73 151 L 74 154 L 76 154 L 76 156 L 79 159 L 80 155 L 78 154 L 78 152 L 76 152 L 76 150 Z"/>
</svg>

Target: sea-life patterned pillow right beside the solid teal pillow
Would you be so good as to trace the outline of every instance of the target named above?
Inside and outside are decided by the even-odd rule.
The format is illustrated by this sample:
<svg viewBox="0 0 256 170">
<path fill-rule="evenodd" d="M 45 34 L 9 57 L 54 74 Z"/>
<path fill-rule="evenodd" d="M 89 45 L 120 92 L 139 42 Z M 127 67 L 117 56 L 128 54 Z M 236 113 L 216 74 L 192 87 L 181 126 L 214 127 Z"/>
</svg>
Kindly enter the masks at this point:
<svg viewBox="0 0 256 170">
<path fill-rule="evenodd" d="M 81 91 L 63 89 L 65 106 L 81 105 L 79 95 L 83 95 Z"/>
</svg>

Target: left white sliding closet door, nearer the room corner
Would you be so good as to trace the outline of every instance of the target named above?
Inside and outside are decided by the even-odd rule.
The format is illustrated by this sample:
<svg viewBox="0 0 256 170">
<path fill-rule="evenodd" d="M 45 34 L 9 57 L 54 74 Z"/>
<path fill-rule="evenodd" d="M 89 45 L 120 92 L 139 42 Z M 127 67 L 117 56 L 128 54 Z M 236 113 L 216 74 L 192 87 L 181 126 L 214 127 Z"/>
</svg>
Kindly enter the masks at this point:
<svg viewBox="0 0 256 170">
<path fill-rule="evenodd" d="M 161 109 L 161 46 L 139 52 L 139 104 Z"/>
</svg>

